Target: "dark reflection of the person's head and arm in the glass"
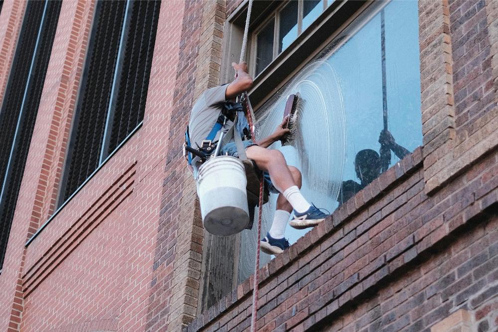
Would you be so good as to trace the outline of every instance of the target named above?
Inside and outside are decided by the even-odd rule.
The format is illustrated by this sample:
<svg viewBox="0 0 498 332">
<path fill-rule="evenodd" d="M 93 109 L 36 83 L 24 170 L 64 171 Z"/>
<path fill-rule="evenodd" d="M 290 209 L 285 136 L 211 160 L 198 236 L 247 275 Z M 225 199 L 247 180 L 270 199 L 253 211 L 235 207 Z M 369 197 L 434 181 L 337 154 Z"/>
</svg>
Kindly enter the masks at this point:
<svg viewBox="0 0 498 332">
<path fill-rule="evenodd" d="M 380 155 L 372 149 L 364 149 L 356 154 L 355 172 L 360 183 L 354 180 L 343 181 L 337 198 L 340 205 L 375 180 L 380 173 L 387 170 L 391 162 L 390 151 L 394 152 L 399 159 L 403 159 L 404 156 L 410 153 L 410 151 L 397 144 L 394 137 L 386 129 L 380 132 L 378 142 L 380 143 Z"/>
</svg>

